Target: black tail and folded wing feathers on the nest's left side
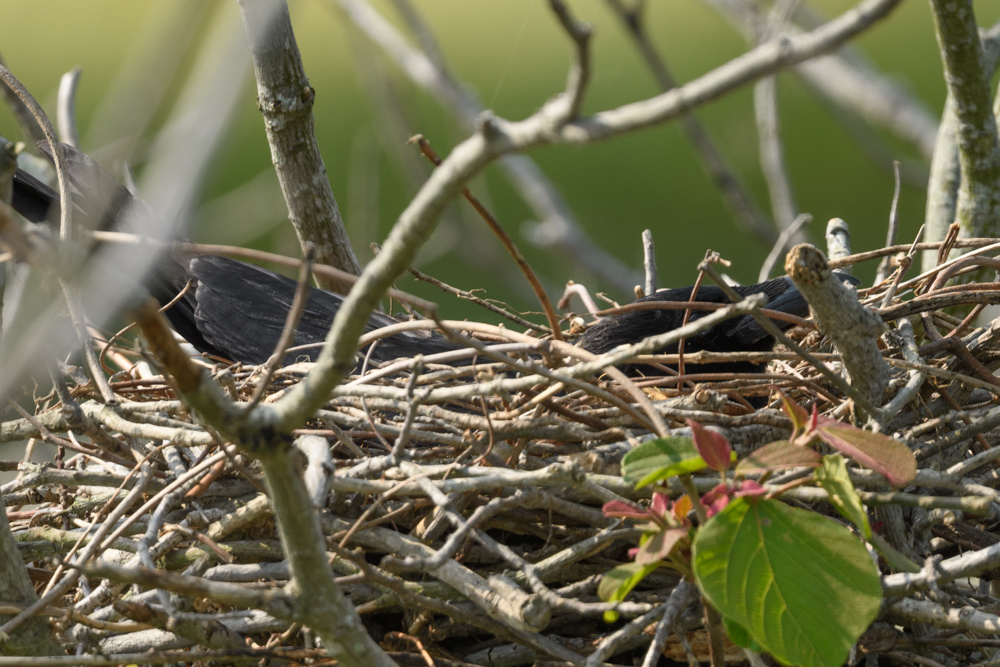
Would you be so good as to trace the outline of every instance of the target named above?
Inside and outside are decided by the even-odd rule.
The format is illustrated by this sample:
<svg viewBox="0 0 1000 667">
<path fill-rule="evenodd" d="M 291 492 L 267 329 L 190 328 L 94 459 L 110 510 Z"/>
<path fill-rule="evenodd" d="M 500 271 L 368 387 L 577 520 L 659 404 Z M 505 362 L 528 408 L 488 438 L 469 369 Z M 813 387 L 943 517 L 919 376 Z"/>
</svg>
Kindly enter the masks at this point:
<svg viewBox="0 0 1000 667">
<path fill-rule="evenodd" d="M 75 188 L 92 190 L 85 198 L 75 196 L 74 215 L 88 226 L 130 231 L 138 227 L 137 216 L 150 216 L 148 209 L 114 177 L 91 158 L 66 147 L 67 166 Z M 94 191 L 99 191 L 95 195 Z M 104 204 L 104 202 L 108 202 Z M 13 207 L 33 222 L 59 217 L 59 195 L 41 181 L 18 170 L 14 175 Z M 99 206 L 99 208 L 95 208 Z M 107 210 L 105 210 L 107 209 Z M 101 211 L 93 225 L 90 211 Z M 146 286 L 161 305 L 187 292 L 166 311 L 174 329 L 200 352 L 251 364 L 265 362 L 281 337 L 291 308 L 296 281 L 273 271 L 218 255 L 170 255 L 156 260 Z M 293 346 L 313 345 L 292 352 L 287 363 L 299 358 L 315 360 L 320 346 L 343 303 L 339 294 L 310 289 L 306 307 L 296 330 Z M 374 331 L 396 320 L 382 313 L 368 318 L 366 331 Z M 403 332 L 387 336 L 372 351 L 376 361 L 389 361 L 417 354 L 433 354 L 456 347 L 440 334 Z"/>
</svg>

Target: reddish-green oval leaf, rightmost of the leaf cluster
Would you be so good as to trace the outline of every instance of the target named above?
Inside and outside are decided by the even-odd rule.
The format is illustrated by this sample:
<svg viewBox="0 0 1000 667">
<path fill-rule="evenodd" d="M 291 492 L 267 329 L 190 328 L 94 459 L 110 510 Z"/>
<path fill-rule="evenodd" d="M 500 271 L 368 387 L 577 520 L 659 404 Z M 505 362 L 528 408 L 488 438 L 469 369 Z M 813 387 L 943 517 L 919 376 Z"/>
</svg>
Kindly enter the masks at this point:
<svg viewBox="0 0 1000 667">
<path fill-rule="evenodd" d="M 903 443 L 881 433 L 872 433 L 829 417 L 820 417 L 817 434 L 858 463 L 884 476 L 895 487 L 903 487 L 917 475 L 917 460 Z"/>
</svg>

